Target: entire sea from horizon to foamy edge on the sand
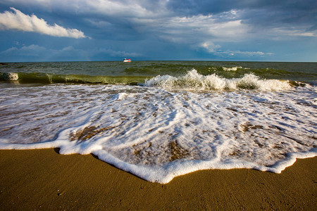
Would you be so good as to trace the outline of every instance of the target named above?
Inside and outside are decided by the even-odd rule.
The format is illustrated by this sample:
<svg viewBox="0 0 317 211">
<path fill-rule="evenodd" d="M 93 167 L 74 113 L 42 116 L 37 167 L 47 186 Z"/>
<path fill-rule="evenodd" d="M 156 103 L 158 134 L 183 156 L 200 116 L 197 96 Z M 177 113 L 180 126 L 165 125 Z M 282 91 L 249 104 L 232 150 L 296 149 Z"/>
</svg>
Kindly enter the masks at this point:
<svg viewBox="0 0 317 211">
<path fill-rule="evenodd" d="M 148 181 L 280 173 L 317 155 L 317 63 L 132 61 L 0 66 L 0 148 L 60 148 Z"/>
</svg>

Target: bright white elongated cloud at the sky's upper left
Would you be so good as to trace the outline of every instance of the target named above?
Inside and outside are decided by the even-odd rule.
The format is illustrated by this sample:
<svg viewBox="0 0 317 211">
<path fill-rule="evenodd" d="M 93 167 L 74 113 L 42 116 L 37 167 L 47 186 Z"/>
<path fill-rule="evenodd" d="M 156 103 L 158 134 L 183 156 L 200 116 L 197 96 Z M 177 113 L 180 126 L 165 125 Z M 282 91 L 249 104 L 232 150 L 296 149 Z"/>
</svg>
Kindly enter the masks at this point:
<svg viewBox="0 0 317 211">
<path fill-rule="evenodd" d="M 15 8 L 11 8 L 14 13 L 5 11 L 0 13 L 0 30 L 18 30 L 23 32 L 37 32 L 54 37 L 85 38 L 85 34 L 80 30 L 66 29 L 60 25 L 48 25 L 42 18 L 36 15 L 25 15 Z"/>
</svg>

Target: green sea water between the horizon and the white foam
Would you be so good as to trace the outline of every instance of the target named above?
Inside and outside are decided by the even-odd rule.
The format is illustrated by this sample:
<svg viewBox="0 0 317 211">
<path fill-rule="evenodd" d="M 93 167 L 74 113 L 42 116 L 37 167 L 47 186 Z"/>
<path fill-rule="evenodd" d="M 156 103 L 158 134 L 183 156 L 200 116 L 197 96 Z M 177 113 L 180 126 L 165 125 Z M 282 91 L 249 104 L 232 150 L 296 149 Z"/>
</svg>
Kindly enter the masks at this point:
<svg viewBox="0 0 317 211">
<path fill-rule="evenodd" d="M 200 75 L 232 79 L 254 74 L 261 79 L 315 83 L 317 63 L 222 62 L 222 61 L 100 61 L 8 63 L 0 66 L 0 80 L 20 83 L 144 84 L 158 75 L 178 77 L 190 70 Z M 9 73 L 10 72 L 10 73 Z"/>
</svg>

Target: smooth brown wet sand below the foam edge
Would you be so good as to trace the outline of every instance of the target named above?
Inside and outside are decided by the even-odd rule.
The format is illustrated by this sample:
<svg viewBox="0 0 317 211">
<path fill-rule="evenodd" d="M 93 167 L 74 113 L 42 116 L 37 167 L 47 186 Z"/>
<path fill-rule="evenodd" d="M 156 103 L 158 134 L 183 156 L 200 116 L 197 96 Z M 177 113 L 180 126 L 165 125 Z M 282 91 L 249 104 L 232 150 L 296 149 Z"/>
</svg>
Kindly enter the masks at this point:
<svg viewBox="0 0 317 211">
<path fill-rule="evenodd" d="M 154 184 L 93 155 L 0 151 L 0 210 L 315 210 L 317 157 L 282 174 L 205 170 Z"/>
</svg>

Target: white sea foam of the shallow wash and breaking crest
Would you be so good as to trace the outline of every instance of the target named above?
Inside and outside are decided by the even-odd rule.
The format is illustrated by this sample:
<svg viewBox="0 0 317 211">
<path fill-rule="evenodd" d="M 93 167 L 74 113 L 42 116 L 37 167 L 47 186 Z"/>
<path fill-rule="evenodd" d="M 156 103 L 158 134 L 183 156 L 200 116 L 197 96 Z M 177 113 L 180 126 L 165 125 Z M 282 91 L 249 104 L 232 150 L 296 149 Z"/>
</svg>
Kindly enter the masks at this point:
<svg viewBox="0 0 317 211">
<path fill-rule="evenodd" d="M 161 78 L 164 83 L 180 80 L 162 76 L 152 82 Z M 58 84 L 4 87 L 0 148 L 93 153 L 122 170 L 160 183 L 207 169 L 280 173 L 296 158 L 317 155 L 313 87 L 267 91 L 272 88 L 261 86 L 278 87 L 278 81 L 254 75 L 226 80 L 195 71 L 181 79 L 199 89 L 202 83 L 197 81 L 213 87 L 229 87 L 230 83 L 238 87 L 251 81 L 266 91 Z"/>
</svg>

